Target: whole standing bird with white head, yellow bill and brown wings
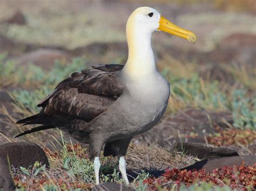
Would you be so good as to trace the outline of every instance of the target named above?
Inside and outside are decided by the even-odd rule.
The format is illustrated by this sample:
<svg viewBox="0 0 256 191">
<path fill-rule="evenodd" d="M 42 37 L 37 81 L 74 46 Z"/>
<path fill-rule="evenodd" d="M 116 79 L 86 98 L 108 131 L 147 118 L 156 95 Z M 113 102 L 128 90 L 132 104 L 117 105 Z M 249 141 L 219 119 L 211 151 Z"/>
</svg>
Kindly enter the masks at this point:
<svg viewBox="0 0 256 191">
<path fill-rule="evenodd" d="M 38 114 L 17 122 L 40 126 L 16 137 L 59 128 L 78 142 L 89 144 L 96 185 L 104 147 L 104 156 L 119 158 L 119 170 L 128 185 L 125 154 L 131 139 L 160 121 L 171 92 L 169 82 L 156 68 L 151 47 L 155 31 L 192 43 L 197 40 L 196 34 L 174 25 L 157 10 L 137 8 L 126 24 L 129 54 L 125 65 L 99 65 L 71 74 L 37 104 L 42 108 Z"/>
</svg>

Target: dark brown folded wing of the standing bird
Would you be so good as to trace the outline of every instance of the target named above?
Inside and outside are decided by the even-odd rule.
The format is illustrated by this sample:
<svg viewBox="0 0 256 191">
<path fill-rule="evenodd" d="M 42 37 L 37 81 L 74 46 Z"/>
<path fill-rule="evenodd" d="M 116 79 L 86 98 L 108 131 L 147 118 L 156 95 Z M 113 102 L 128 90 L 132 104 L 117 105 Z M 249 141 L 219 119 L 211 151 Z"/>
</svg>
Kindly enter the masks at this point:
<svg viewBox="0 0 256 191">
<path fill-rule="evenodd" d="M 41 102 L 42 111 L 17 123 L 81 129 L 102 114 L 122 94 L 119 81 L 123 65 L 100 65 L 73 73 Z"/>
</svg>

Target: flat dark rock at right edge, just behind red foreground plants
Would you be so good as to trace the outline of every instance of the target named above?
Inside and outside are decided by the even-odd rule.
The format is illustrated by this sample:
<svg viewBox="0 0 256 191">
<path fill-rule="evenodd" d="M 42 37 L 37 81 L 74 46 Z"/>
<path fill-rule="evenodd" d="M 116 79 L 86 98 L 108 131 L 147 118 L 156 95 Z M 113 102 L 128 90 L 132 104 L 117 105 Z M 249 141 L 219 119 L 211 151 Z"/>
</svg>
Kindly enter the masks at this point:
<svg viewBox="0 0 256 191">
<path fill-rule="evenodd" d="M 240 166 L 240 165 L 256 165 L 256 155 L 250 156 L 234 156 L 234 157 L 223 157 L 220 159 L 207 159 L 196 162 L 195 164 L 188 166 L 183 169 L 190 171 L 192 169 L 205 169 L 205 172 L 212 172 L 216 168 L 221 168 L 224 166 Z"/>
</svg>

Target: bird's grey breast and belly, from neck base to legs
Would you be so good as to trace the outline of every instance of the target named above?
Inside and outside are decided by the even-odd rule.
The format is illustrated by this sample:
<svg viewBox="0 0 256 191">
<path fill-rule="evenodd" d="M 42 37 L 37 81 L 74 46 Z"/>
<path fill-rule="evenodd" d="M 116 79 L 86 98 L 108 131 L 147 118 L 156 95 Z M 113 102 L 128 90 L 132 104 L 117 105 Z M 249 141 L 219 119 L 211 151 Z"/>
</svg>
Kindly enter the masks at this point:
<svg viewBox="0 0 256 191">
<path fill-rule="evenodd" d="M 161 77 L 142 85 L 137 84 L 125 91 L 100 115 L 92 129 L 104 132 L 108 141 L 136 136 L 151 129 L 164 115 L 170 85 Z"/>
</svg>

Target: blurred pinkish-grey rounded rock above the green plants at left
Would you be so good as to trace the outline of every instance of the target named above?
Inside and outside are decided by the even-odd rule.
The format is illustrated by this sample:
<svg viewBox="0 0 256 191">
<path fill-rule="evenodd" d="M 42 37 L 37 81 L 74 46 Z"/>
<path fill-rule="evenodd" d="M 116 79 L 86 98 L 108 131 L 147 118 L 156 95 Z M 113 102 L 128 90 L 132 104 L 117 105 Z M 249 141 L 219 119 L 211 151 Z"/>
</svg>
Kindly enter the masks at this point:
<svg viewBox="0 0 256 191">
<path fill-rule="evenodd" d="M 41 48 L 37 51 L 26 53 L 17 58 L 18 65 L 26 66 L 33 63 L 34 65 L 42 67 L 46 70 L 50 70 L 56 60 L 70 62 L 71 56 L 65 51 Z"/>
</svg>

